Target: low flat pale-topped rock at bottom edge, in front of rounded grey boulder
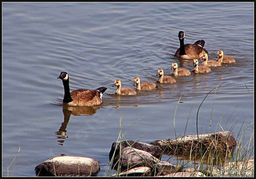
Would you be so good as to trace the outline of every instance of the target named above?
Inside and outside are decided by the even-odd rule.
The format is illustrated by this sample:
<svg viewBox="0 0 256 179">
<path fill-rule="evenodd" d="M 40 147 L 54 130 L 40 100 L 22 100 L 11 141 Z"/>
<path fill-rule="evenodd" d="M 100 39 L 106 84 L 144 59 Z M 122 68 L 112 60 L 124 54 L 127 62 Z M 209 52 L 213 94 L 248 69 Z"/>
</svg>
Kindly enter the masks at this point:
<svg viewBox="0 0 256 179">
<path fill-rule="evenodd" d="M 150 168 L 136 167 L 136 168 L 132 168 L 126 172 L 122 172 L 119 175 L 114 174 L 111 176 L 150 176 Z"/>
</svg>

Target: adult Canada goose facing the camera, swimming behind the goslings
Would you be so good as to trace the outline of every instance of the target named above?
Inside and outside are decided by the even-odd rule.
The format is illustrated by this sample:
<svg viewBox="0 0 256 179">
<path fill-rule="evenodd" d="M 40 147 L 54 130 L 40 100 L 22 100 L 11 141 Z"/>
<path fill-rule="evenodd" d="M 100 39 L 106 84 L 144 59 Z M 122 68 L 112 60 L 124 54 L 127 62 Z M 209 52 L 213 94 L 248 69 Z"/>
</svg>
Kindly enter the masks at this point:
<svg viewBox="0 0 256 179">
<path fill-rule="evenodd" d="M 174 56 L 178 56 L 184 59 L 195 59 L 200 58 L 203 54 L 207 53 L 207 50 L 204 49 L 204 40 L 197 40 L 194 44 L 185 44 L 184 37 L 185 34 L 183 31 L 179 32 L 180 48 L 176 51 Z"/>
</svg>

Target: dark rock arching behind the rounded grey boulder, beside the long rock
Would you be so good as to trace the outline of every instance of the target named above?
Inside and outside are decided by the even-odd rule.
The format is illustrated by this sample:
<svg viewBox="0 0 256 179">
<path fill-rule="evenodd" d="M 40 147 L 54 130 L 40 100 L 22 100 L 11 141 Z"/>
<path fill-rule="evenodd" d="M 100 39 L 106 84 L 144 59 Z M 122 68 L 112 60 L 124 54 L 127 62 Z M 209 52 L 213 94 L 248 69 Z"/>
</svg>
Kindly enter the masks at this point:
<svg viewBox="0 0 256 179">
<path fill-rule="evenodd" d="M 117 144 L 117 146 L 116 146 Z M 161 154 L 161 149 L 159 146 L 154 146 L 154 145 L 150 145 L 147 143 L 143 143 L 143 142 L 135 142 L 133 140 L 123 140 L 121 141 L 121 150 L 124 149 L 125 147 L 132 147 L 132 148 L 136 148 L 139 150 L 143 150 L 148 152 L 149 154 L 155 156 L 156 158 L 160 159 L 160 154 Z M 112 156 L 114 155 L 114 158 L 116 157 L 116 155 L 119 154 L 119 149 L 120 149 L 120 142 L 114 142 L 112 144 L 111 150 L 109 152 L 109 160 L 111 161 Z M 114 154 L 115 153 L 115 154 Z M 113 162 L 116 163 L 116 162 Z"/>
</svg>

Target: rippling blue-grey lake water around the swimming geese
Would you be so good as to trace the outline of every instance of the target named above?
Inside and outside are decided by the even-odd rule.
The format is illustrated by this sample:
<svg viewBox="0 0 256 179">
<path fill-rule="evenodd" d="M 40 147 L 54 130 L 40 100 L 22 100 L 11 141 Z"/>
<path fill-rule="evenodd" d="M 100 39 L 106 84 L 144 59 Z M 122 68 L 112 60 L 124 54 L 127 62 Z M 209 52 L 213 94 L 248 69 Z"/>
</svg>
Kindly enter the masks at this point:
<svg viewBox="0 0 256 179">
<path fill-rule="evenodd" d="M 246 145 L 254 131 L 253 6 L 3 3 L 2 175 L 35 176 L 38 164 L 66 154 L 98 160 L 103 176 L 120 118 L 122 132 L 141 118 L 126 140 L 150 143 L 196 134 L 200 104 L 222 83 L 199 110 L 198 132 L 231 130 Z M 116 79 L 135 89 L 134 77 L 156 82 L 157 69 L 168 75 L 172 62 L 192 70 L 191 60 L 173 56 L 179 31 L 185 32 L 185 44 L 204 39 L 209 60 L 221 49 L 236 63 L 178 76 L 176 84 L 159 84 L 137 96 L 114 95 Z M 103 104 L 75 108 L 70 115 L 61 105 L 64 89 L 57 77 L 62 71 L 69 74 L 71 91 L 106 86 Z"/>
</svg>

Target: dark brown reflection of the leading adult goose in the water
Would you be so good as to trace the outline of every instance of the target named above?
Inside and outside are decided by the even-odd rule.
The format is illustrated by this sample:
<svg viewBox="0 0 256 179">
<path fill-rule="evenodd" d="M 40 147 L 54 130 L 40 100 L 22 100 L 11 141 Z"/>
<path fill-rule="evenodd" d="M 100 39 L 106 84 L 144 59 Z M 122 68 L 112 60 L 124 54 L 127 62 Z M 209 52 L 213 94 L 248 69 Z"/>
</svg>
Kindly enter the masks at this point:
<svg viewBox="0 0 256 179">
<path fill-rule="evenodd" d="M 67 139 L 68 136 L 66 135 L 66 128 L 68 125 L 68 121 L 70 118 L 70 115 L 74 115 L 74 116 L 81 116 L 81 115 L 85 115 L 85 116 L 91 116 L 93 114 L 95 114 L 97 112 L 97 110 L 100 109 L 100 107 L 98 106 L 68 106 L 68 105 L 63 105 L 62 108 L 62 112 L 64 115 L 64 122 L 61 123 L 60 129 L 59 131 L 55 132 L 55 134 L 57 135 L 57 140 L 59 142 L 59 145 L 63 145 L 62 143 L 65 141 L 63 139 Z"/>
</svg>

